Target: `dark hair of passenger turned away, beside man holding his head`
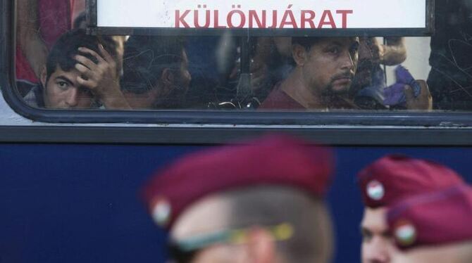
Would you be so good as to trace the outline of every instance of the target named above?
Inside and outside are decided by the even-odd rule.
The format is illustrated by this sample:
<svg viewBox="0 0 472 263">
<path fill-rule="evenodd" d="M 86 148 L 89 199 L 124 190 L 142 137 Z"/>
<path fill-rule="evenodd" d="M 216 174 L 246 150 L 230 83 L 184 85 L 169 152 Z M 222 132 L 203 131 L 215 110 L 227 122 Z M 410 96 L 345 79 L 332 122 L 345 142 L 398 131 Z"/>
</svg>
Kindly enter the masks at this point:
<svg viewBox="0 0 472 263">
<path fill-rule="evenodd" d="M 125 44 L 121 88 L 134 94 L 153 89 L 164 69 L 180 68 L 184 44 L 180 37 L 130 37 Z"/>
</svg>

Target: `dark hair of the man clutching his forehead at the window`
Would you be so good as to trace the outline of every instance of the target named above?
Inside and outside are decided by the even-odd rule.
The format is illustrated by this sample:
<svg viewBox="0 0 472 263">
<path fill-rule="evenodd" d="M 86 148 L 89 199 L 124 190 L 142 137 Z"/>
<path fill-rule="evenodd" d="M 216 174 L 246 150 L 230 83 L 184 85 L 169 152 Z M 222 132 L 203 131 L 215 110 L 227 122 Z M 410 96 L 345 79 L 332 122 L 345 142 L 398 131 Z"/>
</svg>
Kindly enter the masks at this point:
<svg viewBox="0 0 472 263">
<path fill-rule="evenodd" d="M 105 40 L 110 37 L 103 38 Z M 115 49 L 110 47 L 108 42 L 109 41 L 104 41 L 105 49 L 110 53 L 111 56 L 116 56 Z M 56 71 L 57 66 L 61 67 L 61 69 L 66 72 L 73 70 L 73 68 L 75 68 L 75 64 L 77 64 L 77 60 L 74 58 L 74 56 L 77 54 L 85 56 L 94 61 L 94 63 L 97 63 L 97 58 L 94 58 L 88 53 L 82 53 L 78 51 L 78 48 L 85 47 L 97 52 L 100 55 L 99 43 L 99 37 L 87 34 L 83 29 L 70 30 L 64 33 L 61 37 L 59 37 L 49 52 L 46 62 L 46 82 Z"/>
</svg>

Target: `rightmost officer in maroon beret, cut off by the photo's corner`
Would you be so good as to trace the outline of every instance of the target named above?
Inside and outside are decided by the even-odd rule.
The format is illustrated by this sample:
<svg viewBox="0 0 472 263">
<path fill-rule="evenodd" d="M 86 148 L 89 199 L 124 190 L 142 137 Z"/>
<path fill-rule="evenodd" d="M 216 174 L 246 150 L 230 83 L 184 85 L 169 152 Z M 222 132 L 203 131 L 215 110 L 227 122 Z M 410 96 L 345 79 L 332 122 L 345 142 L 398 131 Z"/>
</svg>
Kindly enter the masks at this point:
<svg viewBox="0 0 472 263">
<path fill-rule="evenodd" d="M 392 262 L 472 262 L 470 186 L 409 198 L 389 210 L 388 225 L 401 250 Z"/>
</svg>

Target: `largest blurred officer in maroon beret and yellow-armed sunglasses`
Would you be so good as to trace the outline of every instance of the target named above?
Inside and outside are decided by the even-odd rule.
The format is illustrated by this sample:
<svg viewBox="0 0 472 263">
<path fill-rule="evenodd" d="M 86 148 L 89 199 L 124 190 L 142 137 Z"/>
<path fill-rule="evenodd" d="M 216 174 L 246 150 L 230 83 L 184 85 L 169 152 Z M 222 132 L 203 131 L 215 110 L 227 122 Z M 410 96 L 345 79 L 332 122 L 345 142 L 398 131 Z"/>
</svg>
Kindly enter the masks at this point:
<svg viewBox="0 0 472 263">
<path fill-rule="evenodd" d="M 330 262 L 329 150 L 285 136 L 194 153 L 144 188 L 173 262 Z"/>
</svg>

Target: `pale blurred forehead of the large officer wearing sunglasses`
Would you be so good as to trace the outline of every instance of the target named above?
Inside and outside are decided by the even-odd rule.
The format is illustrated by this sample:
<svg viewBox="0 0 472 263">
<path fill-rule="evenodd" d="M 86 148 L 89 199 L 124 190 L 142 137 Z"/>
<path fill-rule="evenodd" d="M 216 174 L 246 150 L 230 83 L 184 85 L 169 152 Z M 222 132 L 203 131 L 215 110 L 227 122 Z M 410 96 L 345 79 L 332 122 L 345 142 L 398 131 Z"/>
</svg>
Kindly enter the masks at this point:
<svg viewBox="0 0 472 263">
<path fill-rule="evenodd" d="M 230 207 L 228 198 L 222 195 L 213 194 L 201 198 L 180 214 L 170 229 L 170 236 L 180 240 L 227 229 L 231 216 Z"/>
</svg>

